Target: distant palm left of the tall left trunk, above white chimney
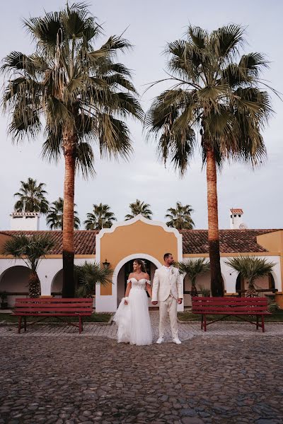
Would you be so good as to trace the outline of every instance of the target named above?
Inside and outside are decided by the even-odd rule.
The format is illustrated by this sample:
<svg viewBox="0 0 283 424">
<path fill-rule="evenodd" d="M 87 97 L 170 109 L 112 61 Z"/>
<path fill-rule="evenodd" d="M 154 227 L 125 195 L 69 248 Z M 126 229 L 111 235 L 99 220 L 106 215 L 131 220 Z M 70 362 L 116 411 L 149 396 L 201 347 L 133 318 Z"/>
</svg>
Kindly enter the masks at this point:
<svg viewBox="0 0 283 424">
<path fill-rule="evenodd" d="M 45 184 L 37 180 L 28 178 L 28 181 L 21 181 L 21 188 L 14 197 L 18 197 L 14 209 L 16 212 L 40 212 L 47 213 L 49 203 L 46 199 L 47 192 Z"/>
</svg>

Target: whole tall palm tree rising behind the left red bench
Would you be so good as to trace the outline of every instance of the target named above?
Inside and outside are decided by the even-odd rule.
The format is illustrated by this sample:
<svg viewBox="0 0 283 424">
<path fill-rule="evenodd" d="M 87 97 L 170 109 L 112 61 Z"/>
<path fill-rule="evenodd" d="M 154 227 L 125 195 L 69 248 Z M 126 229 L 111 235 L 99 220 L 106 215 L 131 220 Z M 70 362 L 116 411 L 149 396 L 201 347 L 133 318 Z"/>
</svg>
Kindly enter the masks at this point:
<svg viewBox="0 0 283 424">
<path fill-rule="evenodd" d="M 94 175 L 91 141 L 102 157 L 127 159 L 132 153 L 126 117 L 143 118 L 129 70 L 116 61 L 131 47 L 111 36 L 100 48 L 101 27 L 86 4 L 72 4 L 40 18 L 24 20 L 35 42 L 33 54 L 11 52 L 4 110 L 11 112 L 8 131 L 18 141 L 35 138 L 45 126 L 42 155 L 64 156 L 63 290 L 74 296 L 74 181 Z"/>
</svg>

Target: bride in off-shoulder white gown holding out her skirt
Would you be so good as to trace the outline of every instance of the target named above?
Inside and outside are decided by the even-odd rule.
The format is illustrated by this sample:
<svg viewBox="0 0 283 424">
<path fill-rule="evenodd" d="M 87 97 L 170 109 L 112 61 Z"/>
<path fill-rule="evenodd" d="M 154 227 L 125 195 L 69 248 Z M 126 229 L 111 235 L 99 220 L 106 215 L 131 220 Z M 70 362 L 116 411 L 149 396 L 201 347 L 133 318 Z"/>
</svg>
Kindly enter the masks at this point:
<svg viewBox="0 0 283 424">
<path fill-rule="evenodd" d="M 144 261 L 135 259 L 133 272 L 129 274 L 127 280 L 125 298 L 122 298 L 113 317 L 113 321 L 118 326 L 118 343 L 124 342 L 139 346 L 152 343 L 146 290 L 151 297 L 151 282 L 149 281 L 149 274 L 146 273 Z"/>
</svg>

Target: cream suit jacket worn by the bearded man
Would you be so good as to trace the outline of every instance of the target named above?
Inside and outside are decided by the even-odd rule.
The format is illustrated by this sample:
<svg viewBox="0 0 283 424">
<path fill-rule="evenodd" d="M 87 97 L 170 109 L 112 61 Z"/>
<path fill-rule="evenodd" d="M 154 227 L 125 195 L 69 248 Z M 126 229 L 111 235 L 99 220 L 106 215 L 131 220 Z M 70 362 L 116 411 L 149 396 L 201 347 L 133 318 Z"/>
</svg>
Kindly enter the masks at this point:
<svg viewBox="0 0 283 424">
<path fill-rule="evenodd" d="M 172 294 L 175 299 L 183 298 L 182 278 L 178 268 L 167 271 L 164 266 L 156 269 L 152 283 L 152 301 L 164 302 Z"/>
</svg>

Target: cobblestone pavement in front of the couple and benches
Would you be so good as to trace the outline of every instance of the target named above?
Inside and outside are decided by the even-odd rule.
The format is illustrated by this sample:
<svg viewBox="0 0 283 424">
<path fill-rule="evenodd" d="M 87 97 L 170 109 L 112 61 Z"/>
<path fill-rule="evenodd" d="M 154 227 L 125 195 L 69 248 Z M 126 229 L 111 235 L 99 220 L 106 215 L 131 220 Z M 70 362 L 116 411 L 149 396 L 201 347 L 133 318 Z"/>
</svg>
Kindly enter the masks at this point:
<svg viewBox="0 0 283 424">
<path fill-rule="evenodd" d="M 283 326 L 199 326 L 141 347 L 117 344 L 114 325 L 1 326 L 0 423 L 283 423 Z"/>
</svg>

